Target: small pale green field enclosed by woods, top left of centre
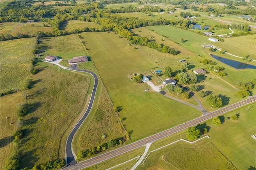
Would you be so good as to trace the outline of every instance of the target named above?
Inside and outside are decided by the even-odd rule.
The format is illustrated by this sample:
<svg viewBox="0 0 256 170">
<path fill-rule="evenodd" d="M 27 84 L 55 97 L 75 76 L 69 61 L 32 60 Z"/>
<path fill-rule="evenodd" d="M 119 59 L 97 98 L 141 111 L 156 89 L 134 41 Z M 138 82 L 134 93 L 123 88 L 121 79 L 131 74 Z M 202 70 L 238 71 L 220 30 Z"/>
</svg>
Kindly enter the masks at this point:
<svg viewBox="0 0 256 170">
<path fill-rule="evenodd" d="M 62 24 L 60 29 L 70 32 L 70 31 L 75 30 L 75 29 L 84 30 L 86 27 L 87 28 L 95 28 L 96 30 L 100 30 L 102 28 L 101 25 L 95 24 L 94 22 L 85 22 L 85 21 L 80 21 L 80 20 L 70 20 L 70 21 L 64 22 L 64 24 Z"/>
</svg>

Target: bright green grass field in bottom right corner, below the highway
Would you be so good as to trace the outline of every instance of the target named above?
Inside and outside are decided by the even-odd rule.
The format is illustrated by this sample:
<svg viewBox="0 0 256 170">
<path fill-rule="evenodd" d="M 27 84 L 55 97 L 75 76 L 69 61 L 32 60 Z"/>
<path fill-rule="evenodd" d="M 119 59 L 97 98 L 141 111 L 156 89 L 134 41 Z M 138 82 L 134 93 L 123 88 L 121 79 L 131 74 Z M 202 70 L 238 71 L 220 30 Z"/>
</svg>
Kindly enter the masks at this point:
<svg viewBox="0 0 256 170">
<path fill-rule="evenodd" d="M 224 117 L 231 117 L 239 114 L 237 121 L 232 119 L 225 121 L 223 125 L 216 127 L 212 120 L 206 122 L 210 126 L 210 139 L 238 169 L 247 169 L 249 166 L 256 166 L 256 145 L 251 137 L 256 134 L 255 104 L 244 106 L 240 109 L 225 114 Z M 248 112 L 246 113 L 247 109 Z"/>
</svg>

